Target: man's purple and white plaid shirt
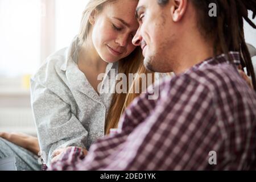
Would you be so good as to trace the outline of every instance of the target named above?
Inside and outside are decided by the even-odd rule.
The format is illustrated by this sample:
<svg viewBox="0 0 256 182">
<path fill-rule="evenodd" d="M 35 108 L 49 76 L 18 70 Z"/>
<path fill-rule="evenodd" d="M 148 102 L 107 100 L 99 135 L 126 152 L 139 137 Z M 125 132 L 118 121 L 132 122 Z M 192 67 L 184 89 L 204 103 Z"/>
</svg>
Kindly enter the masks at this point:
<svg viewBox="0 0 256 182">
<path fill-rule="evenodd" d="M 229 54 L 240 63 L 239 53 Z M 225 55 L 164 80 L 159 90 L 158 100 L 148 100 L 149 91 L 135 99 L 120 131 L 99 139 L 85 159 L 73 147 L 49 169 L 256 169 L 256 94 Z"/>
</svg>

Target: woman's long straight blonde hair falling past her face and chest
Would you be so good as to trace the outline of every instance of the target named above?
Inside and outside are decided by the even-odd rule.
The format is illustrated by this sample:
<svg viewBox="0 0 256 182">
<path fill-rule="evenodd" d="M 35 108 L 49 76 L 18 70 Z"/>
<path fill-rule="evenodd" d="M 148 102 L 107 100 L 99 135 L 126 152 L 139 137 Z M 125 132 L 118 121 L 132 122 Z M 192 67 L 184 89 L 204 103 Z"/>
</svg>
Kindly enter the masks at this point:
<svg viewBox="0 0 256 182">
<path fill-rule="evenodd" d="M 81 20 L 81 28 L 79 33 L 79 45 L 81 46 L 90 34 L 90 29 L 92 24 L 89 22 L 90 15 L 94 10 L 101 11 L 104 8 L 105 3 L 114 2 L 117 0 L 90 0 L 86 6 Z M 138 0 L 139 1 L 139 0 Z M 140 47 L 135 48 L 135 50 L 127 57 L 119 60 L 119 73 L 124 73 L 127 77 L 129 73 L 149 73 L 143 65 L 143 56 Z M 154 75 L 152 80 L 154 80 Z M 128 93 L 114 93 L 112 103 L 105 121 L 105 134 L 109 134 L 110 129 L 117 128 L 119 118 L 121 117 L 123 110 L 136 98 L 139 93 L 133 93 L 133 88 L 136 84 L 139 84 L 139 88 L 142 88 L 142 83 L 139 77 L 135 78 L 131 88 L 129 88 L 129 83 L 127 83 L 127 88 L 129 88 Z M 149 86 L 149 85 L 148 85 Z M 142 90 L 140 90 L 140 93 Z"/>
</svg>

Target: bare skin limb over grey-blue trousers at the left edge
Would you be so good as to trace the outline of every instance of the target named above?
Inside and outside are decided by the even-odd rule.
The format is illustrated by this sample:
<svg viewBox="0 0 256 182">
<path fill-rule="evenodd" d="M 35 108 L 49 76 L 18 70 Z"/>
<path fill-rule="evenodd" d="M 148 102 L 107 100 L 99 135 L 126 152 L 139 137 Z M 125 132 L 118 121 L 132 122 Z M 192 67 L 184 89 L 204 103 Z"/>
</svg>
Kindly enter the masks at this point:
<svg viewBox="0 0 256 182">
<path fill-rule="evenodd" d="M 38 144 L 38 138 L 22 133 L 5 133 L 1 132 L 0 137 L 7 141 L 16 144 L 26 150 L 38 155 L 40 147 Z"/>
</svg>

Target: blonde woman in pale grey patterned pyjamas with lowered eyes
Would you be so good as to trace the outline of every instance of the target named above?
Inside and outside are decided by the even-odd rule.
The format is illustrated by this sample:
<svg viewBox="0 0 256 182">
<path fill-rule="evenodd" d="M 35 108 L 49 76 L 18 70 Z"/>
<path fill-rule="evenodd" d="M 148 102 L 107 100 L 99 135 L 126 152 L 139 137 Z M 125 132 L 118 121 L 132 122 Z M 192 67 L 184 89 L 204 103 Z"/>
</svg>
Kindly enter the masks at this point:
<svg viewBox="0 0 256 182">
<path fill-rule="evenodd" d="M 117 126 L 123 107 L 137 94 L 126 97 L 126 93 L 101 93 L 98 85 L 112 81 L 107 77 L 110 69 L 115 75 L 146 73 L 141 50 L 131 42 L 139 26 L 134 15 L 137 3 L 138 0 L 89 1 L 80 34 L 71 46 L 49 56 L 31 78 L 38 139 L 16 135 L 21 143 L 15 143 L 23 146 L 20 148 L 7 142 L 15 135 L 1 134 L 7 140 L 0 139 L 0 159 L 15 155 L 19 170 L 37 170 L 40 165 L 34 154 L 38 154 L 39 146 L 49 165 L 69 146 L 81 147 L 86 154 L 95 140 Z M 100 73 L 107 75 L 103 81 L 97 79 Z M 111 85 L 113 90 L 115 84 Z M 22 145 L 23 139 L 28 143 Z"/>
</svg>

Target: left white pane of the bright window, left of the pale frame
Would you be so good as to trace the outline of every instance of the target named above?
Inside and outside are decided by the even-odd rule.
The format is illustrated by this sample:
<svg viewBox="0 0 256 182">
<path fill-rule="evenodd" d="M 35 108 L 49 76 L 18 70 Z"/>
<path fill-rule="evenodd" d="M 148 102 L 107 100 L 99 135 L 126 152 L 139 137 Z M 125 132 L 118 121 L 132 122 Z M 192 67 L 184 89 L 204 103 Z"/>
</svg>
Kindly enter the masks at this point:
<svg viewBox="0 0 256 182">
<path fill-rule="evenodd" d="M 0 0 L 0 76 L 32 73 L 40 63 L 40 0 Z"/>
</svg>

